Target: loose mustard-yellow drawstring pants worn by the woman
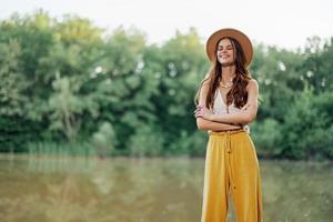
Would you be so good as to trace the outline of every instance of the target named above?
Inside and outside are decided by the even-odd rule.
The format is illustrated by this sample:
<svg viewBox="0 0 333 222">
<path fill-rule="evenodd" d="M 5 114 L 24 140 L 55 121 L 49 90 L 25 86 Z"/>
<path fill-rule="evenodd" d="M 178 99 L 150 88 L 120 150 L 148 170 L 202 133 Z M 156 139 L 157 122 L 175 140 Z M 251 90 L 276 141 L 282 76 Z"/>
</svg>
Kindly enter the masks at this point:
<svg viewBox="0 0 333 222">
<path fill-rule="evenodd" d="M 260 168 L 245 131 L 209 132 L 201 222 L 225 222 L 231 191 L 238 222 L 262 222 Z"/>
</svg>

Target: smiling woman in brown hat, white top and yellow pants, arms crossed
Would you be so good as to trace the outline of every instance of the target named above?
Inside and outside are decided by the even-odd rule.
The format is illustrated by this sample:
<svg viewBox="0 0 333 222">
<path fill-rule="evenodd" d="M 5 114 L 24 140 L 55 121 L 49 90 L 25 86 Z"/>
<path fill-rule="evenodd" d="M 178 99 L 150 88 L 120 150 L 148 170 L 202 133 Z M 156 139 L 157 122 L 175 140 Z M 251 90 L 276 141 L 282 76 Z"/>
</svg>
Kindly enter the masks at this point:
<svg viewBox="0 0 333 222">
<path fill-rule="evenodd" d="M 209 131 L 201 222 L 223 222 L 232 196 L 238 222 L 262 222 L 262 191 L 249 123 L 256 117 L 258 82 L 248 65 L 253 49 L 239 30 L 221 29 L 206 42 L 212 69 L 196 94 L 196 124 Z"/>
</svg>

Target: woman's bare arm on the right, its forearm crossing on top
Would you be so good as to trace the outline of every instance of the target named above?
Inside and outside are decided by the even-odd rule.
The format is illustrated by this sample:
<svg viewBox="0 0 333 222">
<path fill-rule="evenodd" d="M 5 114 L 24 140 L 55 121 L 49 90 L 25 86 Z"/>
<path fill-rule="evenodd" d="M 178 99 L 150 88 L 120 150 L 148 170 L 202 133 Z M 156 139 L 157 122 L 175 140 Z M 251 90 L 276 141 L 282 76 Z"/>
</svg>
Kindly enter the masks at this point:
<svg viewBox="0 0 333 222">
<path fill-rule="evenodd" d="M 258 112 L 258 94 L 259 87 L 258 82 L 252 79 L 248 84 L 248 103 L 250 104 L 248 109 L 242 110 L 236 113 L 228 113 L 223 115 L 212 114 L 209 120 L 214 122 L 223 122 L 223 123 L 239 123 L 246 124 L 252 122 Z"/>
</svg>

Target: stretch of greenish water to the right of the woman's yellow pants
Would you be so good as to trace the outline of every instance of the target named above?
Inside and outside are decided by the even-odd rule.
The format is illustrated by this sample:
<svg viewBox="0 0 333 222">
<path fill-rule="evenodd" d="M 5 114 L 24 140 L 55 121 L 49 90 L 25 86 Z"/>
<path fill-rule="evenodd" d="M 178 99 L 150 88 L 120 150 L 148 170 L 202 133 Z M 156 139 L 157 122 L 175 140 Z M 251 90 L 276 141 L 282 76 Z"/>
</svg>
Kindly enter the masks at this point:
<svg viewBox="0 0 333 222">
<path fill-rule="evenodd" d="M 264 162 L 266 221 L 332 221 L 332 163 Z"/>
</svg>

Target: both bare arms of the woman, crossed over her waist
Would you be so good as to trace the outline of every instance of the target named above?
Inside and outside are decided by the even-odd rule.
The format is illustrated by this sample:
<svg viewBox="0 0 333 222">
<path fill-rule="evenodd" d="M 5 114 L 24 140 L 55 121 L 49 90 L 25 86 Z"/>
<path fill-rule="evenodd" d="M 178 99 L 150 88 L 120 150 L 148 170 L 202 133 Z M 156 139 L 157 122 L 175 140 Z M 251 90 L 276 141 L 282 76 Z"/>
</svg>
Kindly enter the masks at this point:
<svg viewBox="0 0 333 222">
<path fill-rule="evenodd" d="M 252 122 L 258 112 L 258 95 L 259 87 L 258 82 L 252 79 L 248 87 L 248 103 L 244 108 L 236 113 L 228 114 L 213 114 L 211 110 L 208 110 L 204 105 L 204 99 L 206 95 L 205 85 L 200 93 L 199 105 L 195 110 L 196 125 L 200 130 L 230 130 L 240 128 L 240 125 Z"/>
</svg>

